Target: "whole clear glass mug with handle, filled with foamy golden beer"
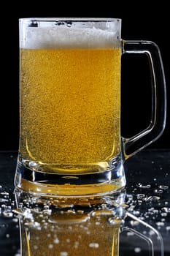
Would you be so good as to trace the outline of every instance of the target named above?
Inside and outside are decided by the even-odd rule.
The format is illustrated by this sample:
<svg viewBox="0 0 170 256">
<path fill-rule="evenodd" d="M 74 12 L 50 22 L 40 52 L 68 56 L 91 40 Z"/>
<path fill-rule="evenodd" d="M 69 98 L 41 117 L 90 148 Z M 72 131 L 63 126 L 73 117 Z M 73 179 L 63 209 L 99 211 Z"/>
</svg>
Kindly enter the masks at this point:
<svg viewBox="0 0 170 256">
<path fill-rule="evenodd" d="M 125 187 L 123 162 L 156 140 L 166 116 L 160 51 L 125 41 L 114 18 L 20 19 L 20 146 L 15 186 L 39 195 L 83 197 Z M 123 53 L 148 56 L 150 126 L 120 135 Z"/>
</svg>

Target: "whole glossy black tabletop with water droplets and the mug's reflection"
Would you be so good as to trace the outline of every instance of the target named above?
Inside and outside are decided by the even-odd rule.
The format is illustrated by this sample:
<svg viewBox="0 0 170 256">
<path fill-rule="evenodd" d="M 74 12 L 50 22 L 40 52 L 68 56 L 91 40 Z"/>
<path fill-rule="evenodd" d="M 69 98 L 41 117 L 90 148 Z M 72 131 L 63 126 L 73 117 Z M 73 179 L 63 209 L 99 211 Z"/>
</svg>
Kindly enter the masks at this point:
<svg viewBox="0 0 170 256">
<path fill-rule="evenodd" d="M 39 198 L 13 185 L 17 152 L 0 153 L 0 255 L 170 255 L 170 150 L 125 162 L 121 193 Z"/>
</svg>

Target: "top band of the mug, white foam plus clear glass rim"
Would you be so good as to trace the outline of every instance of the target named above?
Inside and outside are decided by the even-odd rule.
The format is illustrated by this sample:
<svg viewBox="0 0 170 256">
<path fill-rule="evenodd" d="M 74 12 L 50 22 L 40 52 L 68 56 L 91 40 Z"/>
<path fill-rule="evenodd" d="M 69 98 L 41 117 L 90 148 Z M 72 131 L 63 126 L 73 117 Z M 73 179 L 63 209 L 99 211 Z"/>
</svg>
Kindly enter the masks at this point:
<svg viewBox="0 0 170 256">
<path fill-rule="evenodd" d="M 20 48 L 119 48 L 116 19 L 20 19 Z"/>
</svg>

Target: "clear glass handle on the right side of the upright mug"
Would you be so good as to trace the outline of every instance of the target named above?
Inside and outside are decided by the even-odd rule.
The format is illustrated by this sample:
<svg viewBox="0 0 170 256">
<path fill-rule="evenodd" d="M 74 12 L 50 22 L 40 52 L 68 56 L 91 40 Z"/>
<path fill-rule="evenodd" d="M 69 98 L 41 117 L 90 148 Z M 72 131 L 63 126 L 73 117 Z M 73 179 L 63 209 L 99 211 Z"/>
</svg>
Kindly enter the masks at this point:
<svg viewBox="0 0 170 256">
<path fill-rule="evenodd" d="M 123 156 L 132 157 L 163 133 L 166 124 L 166 81 L 161 53 L 151 41 L 122 41 L 122 53 L 146 54 L 150 64 L 152 86 L 152 114 L 150 125 L 131 138 L 122 138 Z"/>
</svg>

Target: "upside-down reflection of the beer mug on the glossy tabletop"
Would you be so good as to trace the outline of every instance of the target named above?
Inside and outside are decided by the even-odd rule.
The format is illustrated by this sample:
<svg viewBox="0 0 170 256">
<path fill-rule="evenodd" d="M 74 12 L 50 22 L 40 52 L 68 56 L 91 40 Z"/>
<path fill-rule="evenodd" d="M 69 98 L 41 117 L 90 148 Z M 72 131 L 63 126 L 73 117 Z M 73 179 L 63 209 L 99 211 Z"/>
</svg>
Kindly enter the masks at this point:
<svg viewBox="0 0 170 256">
<path fill-rule="evenodd" d="M 80 205 L 69 200 L 41 202 L 28 195 L 15 195 L 19 206 L 16 213 L 21 215 L 23 256 L 133 255 L 136 247 L 140 247 L 142 255 L 155 255 L 162 249 L 162 238 L 155 229 L 131 214 L 126 216 L 121 206 L 123 195 L 115 201 L 112 197 L 101 202 L 80 200 Z"/>
</svg>

